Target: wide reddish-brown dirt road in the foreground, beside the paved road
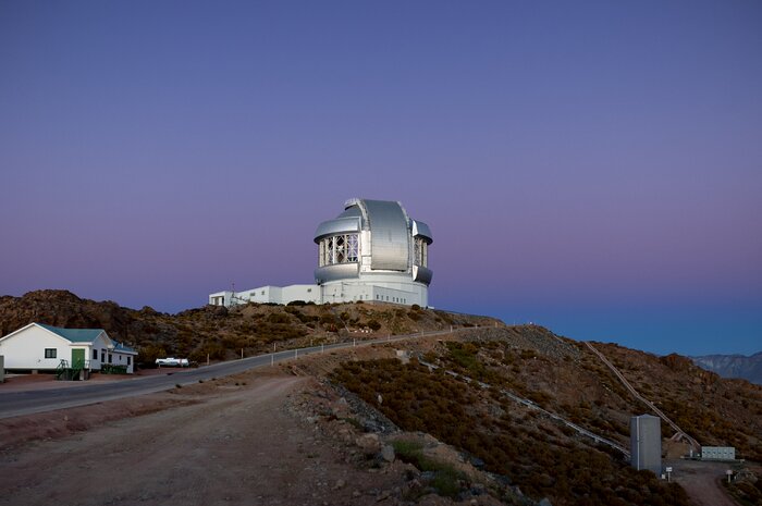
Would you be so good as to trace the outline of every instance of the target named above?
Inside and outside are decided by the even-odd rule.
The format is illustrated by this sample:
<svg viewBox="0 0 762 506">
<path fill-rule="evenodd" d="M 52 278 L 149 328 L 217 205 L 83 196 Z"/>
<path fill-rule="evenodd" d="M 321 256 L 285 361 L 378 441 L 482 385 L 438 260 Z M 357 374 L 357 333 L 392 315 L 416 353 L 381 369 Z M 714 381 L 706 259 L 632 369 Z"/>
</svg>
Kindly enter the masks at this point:
<svg viewBox="0 0 762 506">
<path fill-rule="evenodd" d="M 197 397 L 182 388 L 174 395 L 193 404 L 5 449 L 0 505 L 374 504 L 398 478 L 344 464 L 283 407 L 310 381 L 255 378 Z"/>
</svg>

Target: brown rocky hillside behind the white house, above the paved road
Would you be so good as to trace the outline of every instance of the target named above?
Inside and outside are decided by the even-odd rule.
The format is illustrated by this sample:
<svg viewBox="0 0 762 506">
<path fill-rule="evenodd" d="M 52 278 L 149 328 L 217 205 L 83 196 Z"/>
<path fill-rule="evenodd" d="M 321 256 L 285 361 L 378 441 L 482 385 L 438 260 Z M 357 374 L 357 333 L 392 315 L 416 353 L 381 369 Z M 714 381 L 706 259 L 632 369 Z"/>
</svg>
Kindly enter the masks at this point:
<svg viewBox="0 0 762 506">
<path fill-rule="evenodd" d="M 29 292 L 0 297 L 0 336 L 30 322 L 72 329 L 103 329 L 139 351 L 138 363 L 181 356 L 198 362 L 249 356 L 278 347 L 334 343 L 388 334 L 446 330 L 451 326 L 503 325 L 487 317 L 418 307 L 365 303 L 341 305 L 258 305 L 225 309 L 206 306 L 177 314 L 120 307 L 66 291 Z"/>
</svg>

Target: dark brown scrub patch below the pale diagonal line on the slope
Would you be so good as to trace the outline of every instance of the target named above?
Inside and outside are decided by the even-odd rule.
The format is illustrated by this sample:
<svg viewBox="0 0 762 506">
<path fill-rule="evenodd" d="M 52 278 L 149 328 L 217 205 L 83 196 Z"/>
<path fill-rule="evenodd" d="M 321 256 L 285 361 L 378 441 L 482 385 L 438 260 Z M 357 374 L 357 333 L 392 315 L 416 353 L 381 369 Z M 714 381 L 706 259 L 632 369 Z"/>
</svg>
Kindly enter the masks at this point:
<svg viewBox="0 0 762 506">
<path fill-rule="evenodd" d="M 428 432 L 483 460 L 532 497 L 554 505 L 687 505 L 676 484 L 635 471 L 618 455 L 587 445 L 514 403 L 395 359 L 344 363 L 333 379 L 406 431 Z M 395 448 L 416 461 L 415 448 Z M 425 466 L 416 464 L 425 469 Z"/>
</svg>

